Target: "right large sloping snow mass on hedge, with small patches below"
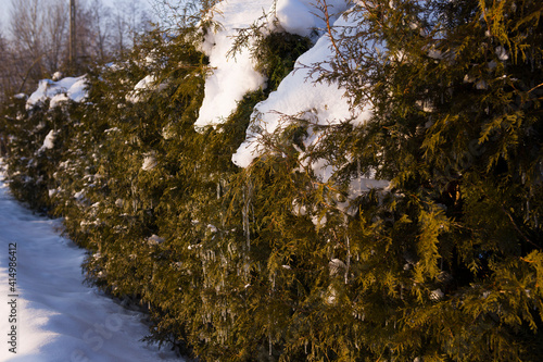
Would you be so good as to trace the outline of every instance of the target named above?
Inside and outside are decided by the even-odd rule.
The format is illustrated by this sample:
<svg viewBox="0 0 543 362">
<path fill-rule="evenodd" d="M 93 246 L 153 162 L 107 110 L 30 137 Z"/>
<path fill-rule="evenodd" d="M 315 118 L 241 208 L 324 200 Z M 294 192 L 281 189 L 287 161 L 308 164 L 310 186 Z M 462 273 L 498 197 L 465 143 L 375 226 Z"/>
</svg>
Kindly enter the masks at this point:
<svg viewBox="0 0 543 362">
<path fill-rule="evenodd" d="M 337 3 L 343 4 L 342 1 L 337 1 Z M 278 8 L 279 5 L 282 7 L 283 2 L 278 2 Z M 288 2 L 288 7 L 292 9 L 302 5 L 305 7 L 307 3 L 302 3 L 302 1 Z M 338 9 L 344 10 L 346 5 L 343 8 L 338 5 Z M 341 16 L 333 23 L 334 27 L 355 26 L 354 16 L 348 12 L 345 14 L 346 16 Z M 288 21 L 283 22 L 288 24 Z M 317 130 L 316 126 L 334 125 L 346 121 L 354 126 L 359 126 L 371 117 L 371 109 L 369 107 L 352 107 L 345 89 L 340 88 L 338 84 L 317 82 L 319 74 L 313 72 L 313 64 L 320 63 L 320 66 L 326 67 L 327 65 L 321 62 L 334 55 L 333 49 L 328 33 L 325 33 L 312 49 L 298 59 L 294 72 L 291 72 L 280 83 L 278 89 L 272 92 L 266 100 L 255 105 L 247 138 L 232 155 L 235 164 L 248 167 L 255 158 L 265 152 L 263 145 L 266 137 L 281 132 L 281 129 L 299 122 L 300 118 L 308 122 L 307 136 L 303 140 L 305 149 L 308 150 L 316 147 L 323 136 L 321 130 Z M 294 148 L 298 146 L 294 145 Z M 329 182 L 338 172 L 326 160 L 307 157 L 307 153 L 301 149 L 298 150 L 301 166 L 311 168 L 320 182 Z M 370 189 L 386 191 L 390 182 L 375 179 L 370 170 L 365 170 L 359 172 L 358 177 L 351 179 L 348 186 L 345 197 L 342 198 L 342 201 L 337 201 L 336 205 L 338 210 L 352 215 L 357 210 L 352 208 L 356 198 Z M 294 212 L 306 212 L 303 205 L 295 204 L 293 209 Z M 316 225 L 321 225 L 326 223 L 326 215 L 313 215 L 312 220 Z"/>
</svg>

